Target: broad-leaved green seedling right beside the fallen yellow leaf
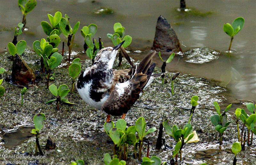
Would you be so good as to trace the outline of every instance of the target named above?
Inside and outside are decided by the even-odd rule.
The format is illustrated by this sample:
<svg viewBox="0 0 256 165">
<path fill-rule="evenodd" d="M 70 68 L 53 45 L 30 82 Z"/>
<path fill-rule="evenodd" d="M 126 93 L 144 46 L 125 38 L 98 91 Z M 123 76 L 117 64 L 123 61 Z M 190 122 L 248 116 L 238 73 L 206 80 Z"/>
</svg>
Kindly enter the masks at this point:
<svg viewBox="0 0 256 165">
<path fill-rule="evenodd" d="M 193 136 L 194 136 L 194 134 L 192 133 L 192 125 L 187 123 L 184 126 L 184 129 L 179 129 L 179 127 L 176 125 L 173 125 L 171 128 L 170 125 L 168 124 L 168 120 L 164 120 L 163 125 L 164 125 L 164 129 L 168 135 L 170 135 L 172 138 L 174 138 L 177 143 L 179 141 L 181 141 L 179 153 L 180 153 L 180 161 L 182 161 L 182 152 L 181 152 L 182 147 L 186 143 L 188 143 L 188 141 L 191 138 L 193 138 Z M 185 141 L 186 138 L 187 138 L 187 141 Z M 177 146 L 177 148 L 178 148 L 178 146 Z"/>
</svg>

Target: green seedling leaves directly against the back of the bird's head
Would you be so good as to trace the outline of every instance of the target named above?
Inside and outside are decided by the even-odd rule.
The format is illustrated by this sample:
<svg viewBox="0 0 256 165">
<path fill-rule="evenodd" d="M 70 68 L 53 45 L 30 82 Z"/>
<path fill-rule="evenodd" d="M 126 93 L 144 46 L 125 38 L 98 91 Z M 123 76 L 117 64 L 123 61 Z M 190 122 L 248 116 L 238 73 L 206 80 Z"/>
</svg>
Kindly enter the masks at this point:
<svg viewBox="0 0 256 165">
<path fill-rule="evenodd" d="M 100 49 L 104 48 L 102 46 L 103 43 L 101 42 L 100 37 L 99 37 L 99 42 L 97 42 L 97 43 L 94 39 L 91 40 L 90 34 L 85 36 L 85 43 L 89 47 L 86 50 L 86 54 L 92 60 L 92 64 L 93 64 L 94 63 L 94 58 L 95 58 L 96 54 L 98 53 L 98 51 L 100 51 Z"/>
</svg>

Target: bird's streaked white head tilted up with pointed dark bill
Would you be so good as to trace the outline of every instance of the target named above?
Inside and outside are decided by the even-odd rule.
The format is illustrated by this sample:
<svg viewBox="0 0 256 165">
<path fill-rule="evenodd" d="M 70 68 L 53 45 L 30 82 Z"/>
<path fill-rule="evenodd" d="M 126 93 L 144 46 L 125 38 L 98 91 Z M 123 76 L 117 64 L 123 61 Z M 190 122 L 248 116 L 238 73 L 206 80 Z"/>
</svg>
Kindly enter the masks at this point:
<svg viewBox="0 0 256 165">
<path fill-rule="evenodd" d="M 110 64 L 113 63 L 114 64 L 117 51 L 122 46 L 123 43 L 124 43 L 124 41 L 119 43 L 118 45 L 116 45 L 113 48 L 106 47 L 106 48 L 101 49 L 95 56 L 94 63 L 102 62 L 102 63 L 110 63 Z M 113 67 L 113 64 L 112 64 L 112 67 Z"/>
</svg>

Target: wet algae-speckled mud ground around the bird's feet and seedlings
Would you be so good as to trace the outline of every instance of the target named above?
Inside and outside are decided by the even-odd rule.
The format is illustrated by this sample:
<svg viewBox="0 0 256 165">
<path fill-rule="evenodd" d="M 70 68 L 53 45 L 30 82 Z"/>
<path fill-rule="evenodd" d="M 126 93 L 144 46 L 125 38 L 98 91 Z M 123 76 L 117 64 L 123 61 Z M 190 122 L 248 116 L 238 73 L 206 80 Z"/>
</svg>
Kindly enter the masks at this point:
<svg viewBox="0 0 256 165">
<path fill-rule="evenodd" d="M 3 78 L 11 75 L 12 62 L 7 59 L 10 54 L 4 52 L 0 54 L 1 67 L 6 69 Z M 22 58 L 27 61 L 29 67 L 33 70 L 40 69 L 40 59 L 36 53 L 26 50 Z M 114 66 L 117 66 L 117 61 Z M 124 60 L 120 68 L 128 68 L 129 65 Z M 91 65 L 91 60 L 81 60 L 82 70 Z M 61 65 L 65 66 L 65 65 Z M 160 68 L 155 69 L 160 73 Z M 45 74 L 36 71 L 38 87 L 27 90 L 24 98 L 23 107 L 20 106 L 20 89 L 6 81 L 2 85 L 6 88 L 4 96 L 0 98 L 0 129 L 12 129 L 20 124 L 32 124 L 33 116 L 38 113 L 44 113 L 46 121 L 40 134 L 40 144 L 45 147 L 48 136 L 51 136 L 56 143 L 56 150 L 51 153 L 45 153 L 46 158 L 37 159 L 38 164 L 60 164 L 66 165 L 73 160 L 82 159 L 86 164 L 104 164 L 103 157 L 105 153 L 112 155 L 112 144 L 110 138 L 104 132 L 105 114 L 87 104 L 80 98 L 77 91 L 69 93 L 67 99 L 76 105 L 61 105 L 60 110 L 56 110 L 55 105 L 47 105 L 46 101 L 53 99 L 52 94 L 45 88 Z M 236 141 L 236 124 L 231 126 L 223 135 L 223 150 L 218 150 L 218 134 L 210 122 L 210 117 L 214 108 L 213 101 L 222 102 L 225 100 L 228 92 L 225 88 L 220 87 L 218 82 L 197 78 L 189 74 L 180 74 L 176 78 L 175 95 L 171 94 L 171 79 L 173 73 L 165 74 L 168 83 L 162 85 L 160 78 L 151 84 L 150 88 L 145 90 L 142 96 L 125 116 L 127 126 L 135 125 L 136 120 L 143 116 L 147 123 L 147 129 L 151 127 L 158 128 L 164 119 L 169 119 L 170 125 L 183 127 L 189 119 L 190 98 L 197 95 L 199 105 L 193 114 L 193 120 L 190 121 L 194 130 L 196 130 L 199 139 L 198 143 L 187 144 L 183 148 L 184 162 L 186 164 L 227 164 L 233 159 L 231 153 L 232 143 Z M 50 82 L 51 84 L 52 82 Z M 67 67 L 56 69 L 54 84 L 67 84 L 71 88 L 72 80 L 68 75 Z M 176 116 L 179 116 L 178 118 Z M 228 118 L 234 118 L 228 114 Z M 112 118 L 116 122 L 119 117 Z M 165 132 L 163 138 L 166 139 L 166 149 L 162 147 L 159 151 L 155 150 L 157 132 L 148 135 L 148 139 L 153 141 L 149 148 L 150 157 L 155 155 L 162 161 L 171 160 L 172 147 L 175 145 L 174 139 L 170 138 Z M 255 139 L 255 136 L 254 136 Z M 2 144 L 2 143 L 0 143 Z M 237 155 L 237 164 L 255 164 L 255 140 L 252 146 L 247 147 Z M 214 148 L 214 149 L 212 149 Z M 0 145 L 0 153 L 7 155 L 32 155 L 35 149 L 35 139 L 29 138 L 27 141 L 11 149 Z M 145 156 L 147 147 L 143 145 L 142 156 Z M 128 160 L 130 164 L 140 164 L 141 162 L 134 159 L 132 149 L 128 149 Z M 203 158 L 203 159 L 202 159 Z M 14 160 L 14 159 L 8 159 Z"/>
</svg>

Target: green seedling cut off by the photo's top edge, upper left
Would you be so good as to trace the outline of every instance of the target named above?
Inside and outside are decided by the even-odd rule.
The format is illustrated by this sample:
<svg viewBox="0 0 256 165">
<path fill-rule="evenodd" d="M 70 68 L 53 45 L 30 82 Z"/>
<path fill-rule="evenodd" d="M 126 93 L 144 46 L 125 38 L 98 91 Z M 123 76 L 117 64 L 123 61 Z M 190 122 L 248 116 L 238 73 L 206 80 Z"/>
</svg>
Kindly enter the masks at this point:
<svg viewBox="0 0 256 165">
<path fill-rule="evenodd" d="M 24 27 L 26 25 L 26 16 L 29 12 L 31 12 L 36 7 L 36 0 L 18 0 L 18 5 L 20 8 L 20 11 L 23 15 L 22 23 L 24 24 Z"/>
</svg>

